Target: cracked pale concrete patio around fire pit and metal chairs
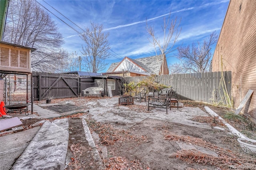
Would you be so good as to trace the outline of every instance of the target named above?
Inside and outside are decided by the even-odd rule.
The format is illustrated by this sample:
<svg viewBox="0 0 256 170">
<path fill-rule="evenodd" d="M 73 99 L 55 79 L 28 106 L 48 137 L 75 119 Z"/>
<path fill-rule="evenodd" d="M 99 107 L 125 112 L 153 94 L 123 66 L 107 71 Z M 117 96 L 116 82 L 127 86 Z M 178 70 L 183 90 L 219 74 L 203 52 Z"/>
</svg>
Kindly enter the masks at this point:
<svg viewBox="0 0 256 170">
<path fill-rule="evenodd" d="M 147 106 L 146 102 L 134 102 L 136 105 Z M 193 127 L 212 129 L 206 123 L 199 123 L 192 121 L 194 116 L 206 116 L 208 114 L 199 108 L 195 107 L 182 107 L 182 108 L 172 108 L 168 110 L 166 114 L 165 109 L 153 109 L 150 112 L 141 110 L 140 112 L 132 111 L 126 105 L 118 105 L 118 98 L 112 97 L 110 99 L 102 99 L 98 101 L 91 101 L 87 103 L 90 106 L 89 114 L 92 118 L 98 122 L 102 123 L 116 123 L 121 125 L 126 125 L 131 127 L 136 123 L 143 121 L 146 118 L 157 119 L 161 121 L 181 123 L 184 125 L 189 125 Z M 104 108 L 104 109 L 103 109 Z"/>
</svg>

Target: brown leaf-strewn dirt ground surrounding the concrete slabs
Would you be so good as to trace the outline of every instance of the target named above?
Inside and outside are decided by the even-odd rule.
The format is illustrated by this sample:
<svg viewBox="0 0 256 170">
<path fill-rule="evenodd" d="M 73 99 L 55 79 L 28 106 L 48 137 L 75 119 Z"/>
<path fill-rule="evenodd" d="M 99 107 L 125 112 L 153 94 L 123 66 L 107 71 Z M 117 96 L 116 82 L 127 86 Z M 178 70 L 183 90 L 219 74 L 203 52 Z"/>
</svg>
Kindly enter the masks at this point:
<svg viewBox="0 0 256 170">
<path fill-rule="evenodd" d="M 81 100 L 86 103 L 96 101 L 97 98 L 54 99 L 52 103 L 72 101 L 72 104 L 81 107 Z M 249 138 L 256 139 L 256 126 L 248 119 L 242 117 L 241 120 L 231 116 L 225 118 L 227 113 L 232 112 L 231 109 L 194 101 L 180 102 L 184 103 L 184 107 L 199 107 L 204 112 L 204 106 L 208 106 L 237 130 Z M 133 111 L 150 113 L 146 111 L 146 106 L 136 103 L 126 107 Z M 84 109 L 90 108 L 87 106 Z M 122 114 L 122 111 L 119 114 Z M 243 152 L 237 137 L 216 118 L 194 117 L 193 121 L 225 130 L 198 128 L 150 118 L 132 126 L 118 122 L 99 123 L 90 113 L 79 113 L 69 117 L 70 163 L 66 169 L 100 168 L 92 158 L 91 148 L 84 138 L 82 123 L 76 118 L 79 116 L 87 118 L 86 122 L 102 158 L 104 169 L 256 169 L 256 155 Z M 23 126 L 28 128 L 35 121 L 39 120 L 28 119 L 22 122 Z"/>
</svg>

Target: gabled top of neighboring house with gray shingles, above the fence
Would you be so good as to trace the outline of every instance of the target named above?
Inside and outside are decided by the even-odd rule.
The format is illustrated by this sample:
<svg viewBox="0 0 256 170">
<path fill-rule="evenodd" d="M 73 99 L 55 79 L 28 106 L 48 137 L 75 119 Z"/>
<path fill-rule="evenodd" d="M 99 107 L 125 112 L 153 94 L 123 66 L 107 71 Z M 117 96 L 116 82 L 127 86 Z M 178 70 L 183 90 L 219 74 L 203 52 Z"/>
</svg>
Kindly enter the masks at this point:
<svg viewBox="0 0 256 170">
<path fill-rule="evenodd" d="M 162 55 L 158 55 L 158 59 L 157 56 L 144 57 L 138 59 L 124 57 L 124 59 L 121 62 L 112 63 L 108 68 L 107 72 L 128 70 L 132 72 L 148 72 L 150 74 L 153 73 L 158 75 L 160 71 L 159 65 L 162 65 L 161 58 Z"/>
</svg>

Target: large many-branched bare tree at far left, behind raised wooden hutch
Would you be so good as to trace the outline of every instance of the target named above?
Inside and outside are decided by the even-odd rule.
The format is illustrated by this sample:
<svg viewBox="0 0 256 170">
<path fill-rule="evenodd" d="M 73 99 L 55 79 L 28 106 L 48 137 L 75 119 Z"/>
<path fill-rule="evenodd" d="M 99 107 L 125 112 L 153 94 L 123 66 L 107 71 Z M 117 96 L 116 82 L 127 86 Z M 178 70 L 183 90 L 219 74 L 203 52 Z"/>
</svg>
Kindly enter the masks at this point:
<svg viewBox="0 0 256 170">
<path fill-rule="evenodd" d="M 56 24 L 34 0 L 10 1 L 3 40 L 36 48 L 31 54 L 31 67 L 35 71 L 54 72 L 66 56 Z"/>
</svg>

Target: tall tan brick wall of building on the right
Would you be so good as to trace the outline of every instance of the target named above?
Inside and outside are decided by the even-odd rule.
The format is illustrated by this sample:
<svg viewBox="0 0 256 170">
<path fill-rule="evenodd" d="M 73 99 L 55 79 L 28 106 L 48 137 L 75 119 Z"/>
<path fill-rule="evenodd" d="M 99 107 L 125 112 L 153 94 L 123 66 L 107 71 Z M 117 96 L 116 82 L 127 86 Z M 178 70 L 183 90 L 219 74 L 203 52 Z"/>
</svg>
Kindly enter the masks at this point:
<svg viewBox="0 0 256 170">
<path fill-rule="evenodd" d="M 212 58 L 212 71 L 232 71 L 235 107 L 249 89 L 250 105 L 242 112 L 256 123 L 256 1 L 230 0 Z"/>
</svg>

